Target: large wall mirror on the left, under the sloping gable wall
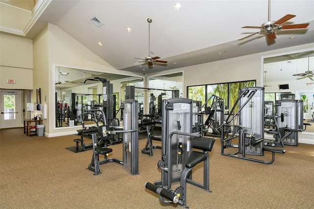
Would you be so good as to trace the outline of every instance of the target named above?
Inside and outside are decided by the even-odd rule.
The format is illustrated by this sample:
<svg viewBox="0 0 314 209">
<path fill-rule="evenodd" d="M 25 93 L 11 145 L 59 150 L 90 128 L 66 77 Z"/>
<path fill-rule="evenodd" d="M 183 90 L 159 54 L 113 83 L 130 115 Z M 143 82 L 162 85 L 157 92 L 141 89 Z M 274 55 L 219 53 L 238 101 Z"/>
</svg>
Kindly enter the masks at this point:
<svg viewBox="0 0 314 209">
<path fill-rule="evenodd" d="M 96 72 L 65 66 L 54 66 L 55 128 L 93 124 L 93 119 L 79 117 L 86 109 L 101 108 L 103 83 L 93 78 L 105 78 L 113 86 L 116 118 L 121 118 L 120 105 L 125 100 L 126 86 L 144 87 L 143 77 Z M 135 99 L 143 104 L 143 89 L 136 89 Z"/>
</svg>

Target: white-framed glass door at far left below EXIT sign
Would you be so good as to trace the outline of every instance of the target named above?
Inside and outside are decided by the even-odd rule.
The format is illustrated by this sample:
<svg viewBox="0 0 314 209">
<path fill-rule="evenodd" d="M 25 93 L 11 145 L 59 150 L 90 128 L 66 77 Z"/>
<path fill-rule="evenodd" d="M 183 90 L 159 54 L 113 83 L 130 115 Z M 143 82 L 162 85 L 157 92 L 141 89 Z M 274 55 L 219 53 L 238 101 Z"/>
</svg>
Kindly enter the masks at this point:
<svg viewBox="0 0 314 209">
<path fill-rule="evenodd" d="M 21 126 L 21 100 L 20 91 L 1 91 L 0 128 Z"/>
</svg>

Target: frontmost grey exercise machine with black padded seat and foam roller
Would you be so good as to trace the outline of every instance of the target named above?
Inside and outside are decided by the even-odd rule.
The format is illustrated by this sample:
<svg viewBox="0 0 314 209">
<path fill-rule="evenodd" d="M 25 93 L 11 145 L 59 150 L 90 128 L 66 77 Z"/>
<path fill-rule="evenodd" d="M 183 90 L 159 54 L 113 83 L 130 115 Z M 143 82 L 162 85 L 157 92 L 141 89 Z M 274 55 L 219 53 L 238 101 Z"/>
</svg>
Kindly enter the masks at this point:
<svg viewBox="0 0 314 209">
<path fill-rule="evenodd" d="M 163 204 L 186 206 L 186 183 L 209 190 L 209 152 L 215 139 L 192 133 L 192 100 L 172 98 L 162 100 L 162 156 L 157 166 L 161 180 L 145 183 L 145 187 L 158 194 Z M 194 151 L 192 148 L 201 150 Z M 192 169 L 204 161 L 204 183 L 192 180 Z M 180 183 L 172 190 L 172 183 Z M 164 199 L 165 198 L 165 199 Z"/>
</svg>

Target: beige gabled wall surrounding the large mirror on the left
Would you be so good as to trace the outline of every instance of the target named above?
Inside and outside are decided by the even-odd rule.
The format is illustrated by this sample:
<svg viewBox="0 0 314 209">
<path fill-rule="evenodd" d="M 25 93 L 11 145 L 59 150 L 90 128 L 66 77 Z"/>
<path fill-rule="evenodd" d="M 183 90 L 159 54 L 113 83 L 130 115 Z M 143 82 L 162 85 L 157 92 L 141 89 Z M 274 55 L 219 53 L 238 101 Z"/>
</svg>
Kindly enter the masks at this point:
<svg viewBox="0 0 314 209">
<path fill-rule="evenodd" d="M 46 36 L 48 38 L 47 40 Z M 44 124 L 47 126 L 45 131 L 47 133 L 46 135 L 56 136 L 76 133 L 77 128 L 55 129 L 54 66 L 60 65 L 99 72 L 127 75 L 130 75 L 130 72 L 123 72 L 114 69 L 102 58 L 88 50 L 81 43 L 76 41 L 74 38 L 69 36 L 55 25 L 49 24 L 47 30 L 43 31 L 39 36 L 37 36 L 36 40 L 42 40 L 43 42 L 46 42 L 39 44 L 38 48 L 36 47 L 35 49 L 34 40 L 34 63 L 39 61 L 41 62 L 44 67 L 40 67 L 39 70 L 44 71 L 44 73 L 41 72 L 41 75 L 46 76 L 41 81 L 38 81 L 34 77 L 34 88 L 35 86 L 40 87 L 42 89 L 42 97 L 44 97 L 44 95 L 47 96 L 46 103 L 43 103 L 48 104 L 48 119 L 44 120 Z M 46 60 L 39 59 L 39 57 L 42 56 L 42 52 L 48 54 L 48 62 Z M 34 64 L 34 74 L 36 72 L 35 68 L 37 68 L 37 65 Z"/>
</svg>

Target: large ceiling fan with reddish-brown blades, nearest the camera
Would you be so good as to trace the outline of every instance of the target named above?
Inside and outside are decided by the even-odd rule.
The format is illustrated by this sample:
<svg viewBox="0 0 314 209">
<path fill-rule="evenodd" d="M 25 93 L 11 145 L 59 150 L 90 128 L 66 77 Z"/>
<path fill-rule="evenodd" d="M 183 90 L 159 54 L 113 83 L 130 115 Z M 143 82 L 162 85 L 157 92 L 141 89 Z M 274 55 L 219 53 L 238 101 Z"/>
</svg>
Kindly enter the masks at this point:
<svg viewBox="0 0 314 209">
<path fill-rule="evenodd" d="M 295 15 L 288 14 L 288 15 L 282 17 L 281 19 L 279 19 L 277 21 L 270 21 L 270 0 L 268 0 L 268 21 L 266 23 L 262 24 L 262 26 L 244 26 L 244 27 L 241 27 L 241 28 L 257 28 L 257 29 L 261 29 L 261 30 L 259 32 L 256 32 L 256 33 L 252 33 L 251 35 L 248 35 L 244 38 L 241 38 L 241 39 L 239 39 L 239 41 L 241 41 L 245 38 L 251 37 L 253 35 L 263 33 L 263 32 L 267 32 L 268 40 L 274 40 L 276 38 L 275 30 L 301 29 L 301 28 L 306 28 L 307 26 L 309 26 L 309 23 L 294 24 L 294 25 L 282 25 L 294 17 L 295 17 Z"/>
</svg>

